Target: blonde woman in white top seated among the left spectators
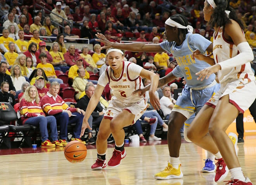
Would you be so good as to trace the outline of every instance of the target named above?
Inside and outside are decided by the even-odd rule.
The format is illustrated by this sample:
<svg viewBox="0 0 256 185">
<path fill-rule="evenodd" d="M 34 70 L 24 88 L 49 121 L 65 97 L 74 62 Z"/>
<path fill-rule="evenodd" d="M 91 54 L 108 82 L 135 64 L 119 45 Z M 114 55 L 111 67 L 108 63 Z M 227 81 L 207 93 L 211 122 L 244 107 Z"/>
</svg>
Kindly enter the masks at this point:
<svg viewBox="0 0 256 185">
<path fill-rule="evenodd" d="M 21 90 L 21 85 L 26 81 L 25 77 L 22 76 L 21 67 L 18 64 L 14 64 L 11 68 L 11 79 L 16 92 Z"/>
</svg>

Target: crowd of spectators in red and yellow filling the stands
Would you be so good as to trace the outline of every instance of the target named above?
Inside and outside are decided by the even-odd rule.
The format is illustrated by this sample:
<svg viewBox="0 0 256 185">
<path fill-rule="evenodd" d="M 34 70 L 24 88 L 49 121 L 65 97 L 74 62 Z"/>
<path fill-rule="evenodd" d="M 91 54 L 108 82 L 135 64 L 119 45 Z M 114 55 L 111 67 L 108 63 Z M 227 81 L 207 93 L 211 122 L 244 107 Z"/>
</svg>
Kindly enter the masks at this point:
<svg viewBox="0 0 256 185">
<path fill-rule="evenodd" d="M 101 49 L 104 44 L 95 40 L 95 33 L 104 34 L 112 42 L 137 41 L 158 44 L 166 41 L 165 20 L 171 15 L 182 14 L 194 27 L 195 34 L 201 34 L 213 41 L 214 30 L 204 20 L 203 4 L 204 0 L 0 0 L 0 101 L 9 102 L 11 105 L 20 103 L 25 124 L 31 124 L 33 119 L 30 118 L 37 115 L 46 117 L 36 119 L 35 122 L 47 124 L 49 120 L 55 120 L 55 124 L 50 127 L 51 141 L 46 134 L 47 127 L 40 127 L 42 145 L 65 146 L 68 122 L 76 120 L 79 122 L 78 127 L 81 127 L 81 117 L 77 116 L 74 119 L 71 112 L 77 115 L 83 113 L 81 110 L 86 109 L 93 94 L 93 84 L 97 84 L 99 75 L 104 73 L 108 66 L 106 49 Z M 230 0 L 230 6 L 235 8 L 237 15 L 246 25 L 244 33 L 247 41 L 252 49 L 256 48 L 256 2 Z M 93 50 L 89 49 L 86 40 L 79 38 L 88 39 L 93 45 Z M 72 44 L 68 44 L 66 48 L 67 43 Z M 78 49 L 77 44 L 83 44 L 83 47 Z M 256 51 L 254 56 L 256 61 Z M 158 73 L 160 77 L 175 68 L 172 62 L 175 58 L 165 52 L 125 51 L 125 59 Z M 255 71 L 256 64 L 251 64 Z M 34 85 L 35 88 L 30 85 Z M 161 119 L 168 119 L 175 104 L 172 98 L 173 88 L 183 88 L 181 78 L 168 85 L 171 85 L 171 89 L 164 86 L 157 90 L 160 103 L 163 103 L 161 106 L 164 107 Z M 65 92 L 56 93 L 57 89 L 62 91 L 65 88 L 74 88 L 75 91 L 68 100 L 62 100 L 60 96 Z M 107 90 L 104 93 L 89 121 L 91 124 L 99 124 L 106 110 L 107 101 L 111 96 L 106 95 L 109 93 Z M 51 105 L 48 105 L 46 99 L 52 104 L 59 99 L 61 104 L 58 108 L 49 107 Z M 69 109 L 65 101 L 78 102 L 78 108 Z M 28 107 L 31 103 L 38 105 L 38 112 L 35 114 L 29 112 Z M 23 104 L 26 104 L 26 109 L 22 107 Z M 81 104 L 83 106 L 80 106 Z M 65 114 L 63 119 L 66 120 L 61 121 L 60 140 L 57 141 L 54 125 L 62 120 L 59 119 L 62 114 Z M 146 114 L 140 121 L 152 124 L 150 136 L 155 140 L 158 139 L 153 133 L 156 128 L 154 124 L 166 127 L 155 112 Z M 138 134 L 143 137 L 140 128 L 136 127 Z M 74 132 L 74 139 L 79 138 L 78 130 Z M 90 144 L 95 143 L 90 131 L 88 139 Z M 141 141 L 145 141 L 144 139 Z"/>
</svg>

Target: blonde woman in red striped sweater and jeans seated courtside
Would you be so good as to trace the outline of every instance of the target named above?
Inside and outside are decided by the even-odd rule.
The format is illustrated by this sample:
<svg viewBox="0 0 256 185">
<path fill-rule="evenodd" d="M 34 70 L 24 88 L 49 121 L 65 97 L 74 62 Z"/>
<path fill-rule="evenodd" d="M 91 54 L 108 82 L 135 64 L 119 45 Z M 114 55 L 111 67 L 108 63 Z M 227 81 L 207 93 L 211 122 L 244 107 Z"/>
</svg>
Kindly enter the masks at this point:
<svg viewBox="0 0 256 185">
<path fill-rule="evenodd" d="M 40 106 L 40 98 L 35 86 L 29 86 L 24 92 L 21 98 L 20 110 L 22 124 L 35 125 L 40 128 L 41 147 L 52 148 L 62 146 L 57 138 L 56 119 L 52 115 L 45 116 L 43 113 L 42 107 Z M 53 142 L 48 139 L 47 125 L 50 127 L 50 137 Z"/>
</svg>

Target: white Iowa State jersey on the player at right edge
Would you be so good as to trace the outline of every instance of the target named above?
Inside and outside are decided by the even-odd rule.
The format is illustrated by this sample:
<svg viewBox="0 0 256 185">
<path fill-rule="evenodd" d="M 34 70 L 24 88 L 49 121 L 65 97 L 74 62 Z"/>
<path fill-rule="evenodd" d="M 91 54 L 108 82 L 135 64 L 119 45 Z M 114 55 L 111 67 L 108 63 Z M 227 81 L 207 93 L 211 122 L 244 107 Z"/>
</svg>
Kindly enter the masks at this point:
<svg viewBox="0 0 256 185">
<path fill-rule="evenodd" d="M 223 62 L 227 59 L 233 58 L 239 53 L 237 46 L 234 43 L 227 41 L 224 38 L 223 27 L 220 27 L 216 37 L 213 34 L 213 56 L 215 63 Z M 228 80 L 228 78 L 237 78 L 243 83 L 248 83 L 254 80 L 254 74 L 251 70 L 251 64 L 235 66 L 234 68 L 218 71 L 218 79 L 220 83 Z"/>
</svg>

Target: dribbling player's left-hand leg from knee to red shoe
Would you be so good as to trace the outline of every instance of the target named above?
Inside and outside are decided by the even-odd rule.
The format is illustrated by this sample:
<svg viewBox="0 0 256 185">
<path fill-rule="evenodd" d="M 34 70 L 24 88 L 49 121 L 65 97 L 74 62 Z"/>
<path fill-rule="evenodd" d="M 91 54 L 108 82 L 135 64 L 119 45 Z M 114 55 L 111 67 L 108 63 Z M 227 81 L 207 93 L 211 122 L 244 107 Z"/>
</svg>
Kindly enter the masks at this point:
<svg viewBox="0 0 256 185">
<path fill-rule="evenodd" d="M 110 119 L 103 118 L 100 127 L 99 132 L 97 135 L 96 140 L 96 148 L 97 148 L 97 160 L 92 165 L 92 170 L 102 170 L 102 168 L 105 168 L 107 166 L 106 163 L 106 151 L 107 151 L 107 138 L 110 136 Z"/>
</svg>

